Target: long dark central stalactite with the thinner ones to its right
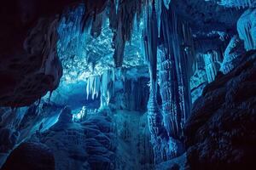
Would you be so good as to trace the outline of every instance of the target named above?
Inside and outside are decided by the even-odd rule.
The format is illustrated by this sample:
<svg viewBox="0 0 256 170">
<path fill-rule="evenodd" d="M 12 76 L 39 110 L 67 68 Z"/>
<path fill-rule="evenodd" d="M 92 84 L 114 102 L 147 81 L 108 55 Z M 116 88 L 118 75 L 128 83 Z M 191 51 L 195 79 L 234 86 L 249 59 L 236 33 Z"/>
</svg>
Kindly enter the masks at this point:
<svg viewBox="0 0 256 170">
<path fill-rule="evenodd" d="M 116 67 L 122 66 L 125 43 L 131 40 L 132 29 L 134 29 L 135 26 L 134 23 L 140 23 L 142 14 L 144 15 L 144 18 L 147 18 L 148 14 L 152 15 L 153 5 L 155 16 L 152 15 L 152 17 L 156 17 L 157 19 L 156 26 L 158 28 L 158 37 L 160 37 L 160 15 L 162 4 L 164 4 L 166 8 L 169 8 L 170 2 L 171 0 L 110 0 L 109 20 L 110 27 L 113 31 L 113 59 Z M 147 23 L 147 20 L 144 21 Z"/>
</svg>

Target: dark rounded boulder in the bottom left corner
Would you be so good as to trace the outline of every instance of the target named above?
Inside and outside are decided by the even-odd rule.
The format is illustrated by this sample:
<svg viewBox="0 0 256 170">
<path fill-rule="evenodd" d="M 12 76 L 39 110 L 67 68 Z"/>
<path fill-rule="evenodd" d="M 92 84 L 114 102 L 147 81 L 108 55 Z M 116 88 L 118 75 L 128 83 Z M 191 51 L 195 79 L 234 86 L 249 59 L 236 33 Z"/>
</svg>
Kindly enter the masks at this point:
<svg viewBox="0 0 256 170">
<path fill-rule="evenodd" d="M 1 170 L 55 170 L 53 153 L 44 144 L 20 144 L 8 157 Z"/>
</svg>

